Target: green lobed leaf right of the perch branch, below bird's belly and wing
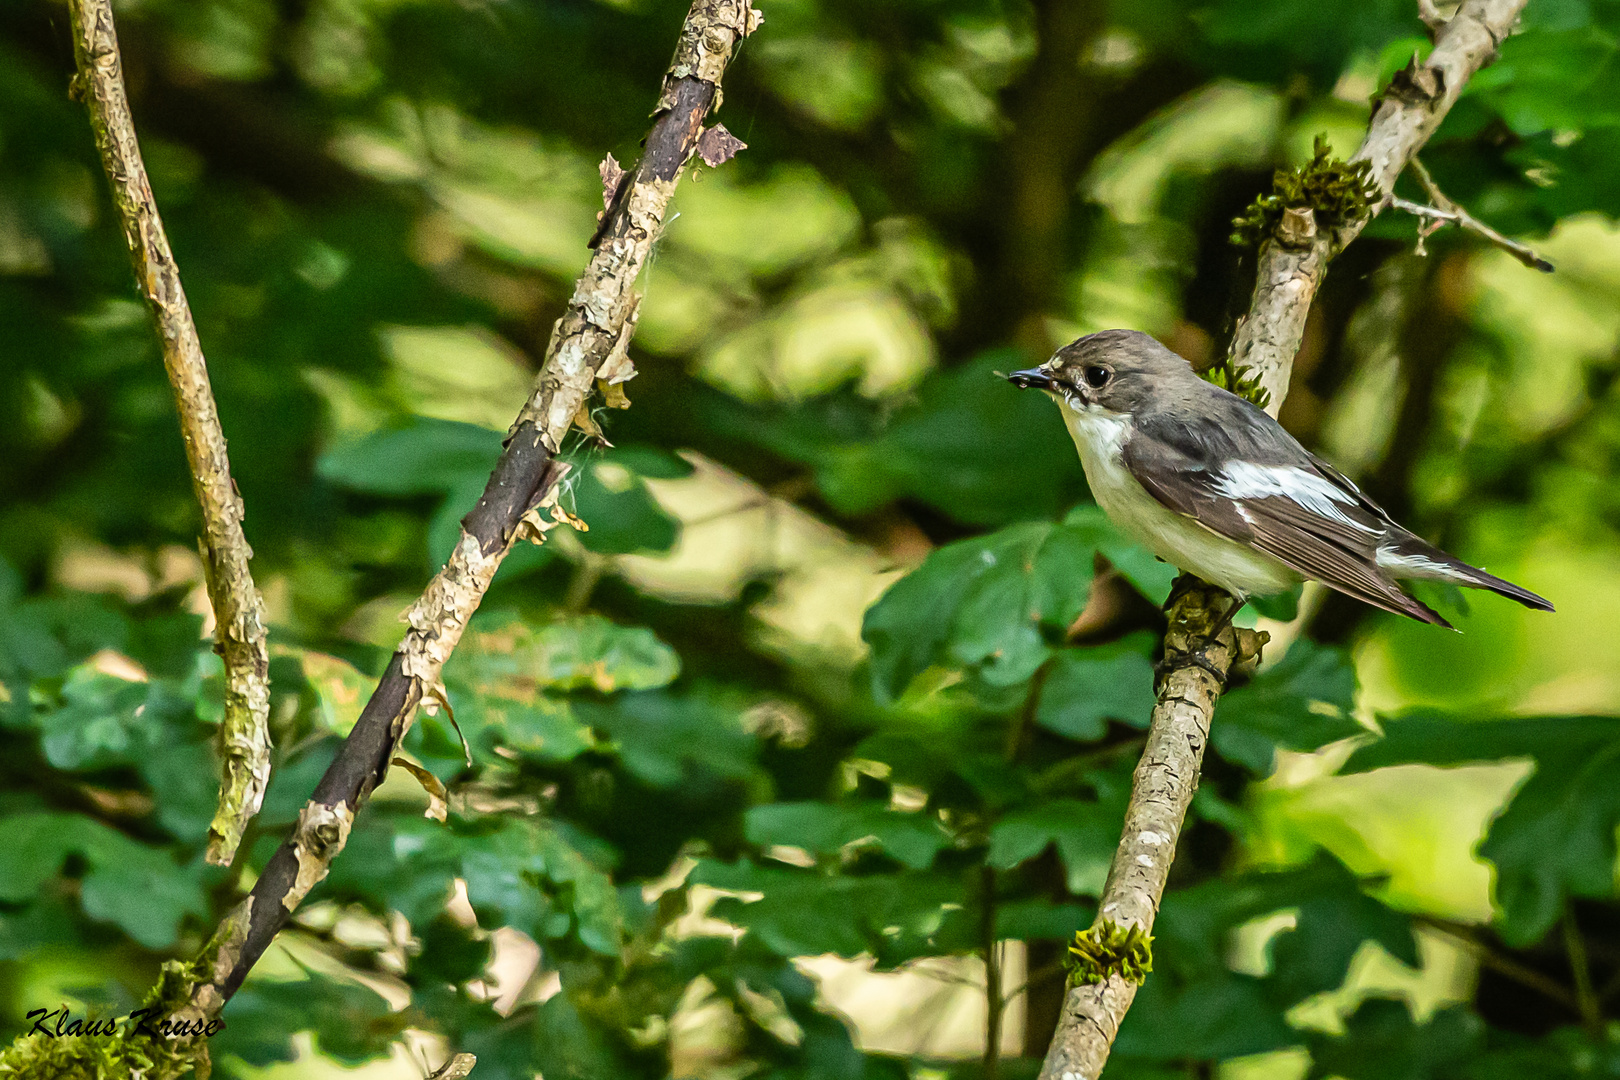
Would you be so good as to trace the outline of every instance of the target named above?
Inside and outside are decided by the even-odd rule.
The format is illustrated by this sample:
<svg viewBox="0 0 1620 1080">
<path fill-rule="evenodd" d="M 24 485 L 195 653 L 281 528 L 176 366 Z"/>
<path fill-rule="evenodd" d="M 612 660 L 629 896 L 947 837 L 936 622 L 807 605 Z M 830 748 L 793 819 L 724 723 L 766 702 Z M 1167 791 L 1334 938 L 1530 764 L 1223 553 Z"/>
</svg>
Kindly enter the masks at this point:
<svg viewBox="0 0 1620 1080">
<path fill-rule="evenodd" d="M 1341 649 L 1299 640 L 1254 682 L 1221 698 L 1210 725 L 1215 753 L 1257 776 L 1277 750 L 1317 750 L 1366 729 L 1351 717 L 1356 669 Z"/>
</svg>

